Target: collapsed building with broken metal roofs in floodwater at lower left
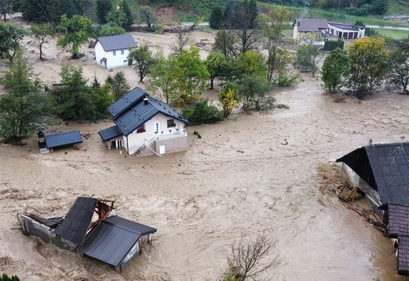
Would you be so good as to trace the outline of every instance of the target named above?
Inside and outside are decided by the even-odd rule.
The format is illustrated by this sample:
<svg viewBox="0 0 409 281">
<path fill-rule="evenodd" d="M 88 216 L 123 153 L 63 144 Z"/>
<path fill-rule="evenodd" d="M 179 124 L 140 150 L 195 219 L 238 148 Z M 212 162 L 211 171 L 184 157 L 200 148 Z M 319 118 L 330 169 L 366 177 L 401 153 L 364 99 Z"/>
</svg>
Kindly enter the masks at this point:
<svg viewBox="0 0 409 281">
<path fill-rule="evenodd" d="M 31 213 L 17 217 L 25 235 L 100 260 L 119 272 L 142 253 L 141 237 L 147 236 L 151 243 L 151 234 L 156 232 L 116 216 L 113 201 L 91 197 L 78 197 L 65 217 L 44 219 Z"/>
</svg>

